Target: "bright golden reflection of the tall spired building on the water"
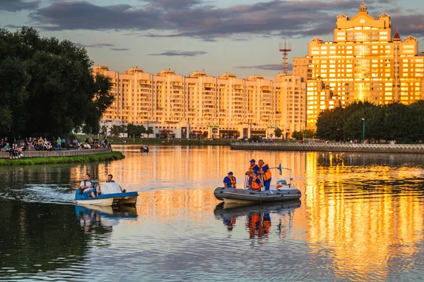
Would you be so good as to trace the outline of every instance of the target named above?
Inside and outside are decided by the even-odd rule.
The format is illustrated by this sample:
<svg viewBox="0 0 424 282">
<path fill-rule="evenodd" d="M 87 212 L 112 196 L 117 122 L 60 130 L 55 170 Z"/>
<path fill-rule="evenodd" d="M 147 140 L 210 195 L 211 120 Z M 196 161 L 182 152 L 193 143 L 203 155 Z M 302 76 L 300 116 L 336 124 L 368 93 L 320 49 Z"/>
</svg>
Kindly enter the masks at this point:
<svg viewBox="0 0 424 282">
<path fill-rule="evenodd" d="M 393 156 L 306 155 L 307 241 L 317 256 L 328 247 L 339 278 L 356 273 L 359 279 L 384 279 L 394 257 L 406 259 L 418 251 L 422 169 L 404 165 L 408 157 Z"/>
</svg>

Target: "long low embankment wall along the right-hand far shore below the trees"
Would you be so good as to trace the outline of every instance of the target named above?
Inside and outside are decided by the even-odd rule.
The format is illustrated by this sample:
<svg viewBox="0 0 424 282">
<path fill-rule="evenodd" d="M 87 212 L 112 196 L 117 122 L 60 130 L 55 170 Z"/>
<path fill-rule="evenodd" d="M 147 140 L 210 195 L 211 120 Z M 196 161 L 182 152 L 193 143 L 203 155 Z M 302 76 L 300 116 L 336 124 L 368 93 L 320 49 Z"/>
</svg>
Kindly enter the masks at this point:
<svg viewBox="0 0 424 282">
<path fill-rule="evenodd" d="M 341 143 L 247 143 L 233 142 L 231 149 L 256 149 L 307 152 L 370 152 L 424 154 L 423 144 L 341 144 Z"/>
</svg>

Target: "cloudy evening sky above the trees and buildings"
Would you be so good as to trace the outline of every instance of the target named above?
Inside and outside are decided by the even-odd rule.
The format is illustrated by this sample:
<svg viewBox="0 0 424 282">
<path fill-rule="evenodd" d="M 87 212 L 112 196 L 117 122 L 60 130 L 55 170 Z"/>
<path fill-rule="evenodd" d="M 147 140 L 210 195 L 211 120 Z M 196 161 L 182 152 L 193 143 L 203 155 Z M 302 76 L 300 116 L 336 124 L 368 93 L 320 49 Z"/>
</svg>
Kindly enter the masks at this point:
<svg viewBox="0 0 424 282">
<path fill-rule="evenodd" d="M 336 17 L 361 0 L 0 0 L 0 27 L 33 26 L 44 37 L 85 47 L 95 65 L 179 75 L 206 71 L 239 78 L 282 72 L 280 42 L 293 58 L 314 37 L 333 39 Z M 391 16 L 401 38 L 424 38 L 423 0 L 365 0 L 374 18 Z M 420 51 L 424 48 L 420 47 Z"/>
</svg>

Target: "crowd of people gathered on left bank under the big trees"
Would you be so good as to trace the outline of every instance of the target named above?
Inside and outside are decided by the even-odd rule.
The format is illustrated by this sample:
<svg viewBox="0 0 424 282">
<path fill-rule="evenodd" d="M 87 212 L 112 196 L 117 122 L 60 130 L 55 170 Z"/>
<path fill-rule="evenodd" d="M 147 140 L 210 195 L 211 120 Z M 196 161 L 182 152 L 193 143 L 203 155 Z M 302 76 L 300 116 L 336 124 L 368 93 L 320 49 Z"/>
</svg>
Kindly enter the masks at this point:
<svg viewBox="0 0 424 282">
<path fill-rule="evenodd" d="M 78 139 L 66 139 L 65 137 L 27 137 L 16 142 L 9 142 L 7 137 L 0 140 L 0 152 L 8 152 L 10 159 L 23 157 L 23 152 L 30 151 L 61 151 L 62 149 L 105 149 L 110 147 L 110 142 L 105 137 L 99 140 L 98 137 L 87 137 L 80 142 Z"/>
</svg>

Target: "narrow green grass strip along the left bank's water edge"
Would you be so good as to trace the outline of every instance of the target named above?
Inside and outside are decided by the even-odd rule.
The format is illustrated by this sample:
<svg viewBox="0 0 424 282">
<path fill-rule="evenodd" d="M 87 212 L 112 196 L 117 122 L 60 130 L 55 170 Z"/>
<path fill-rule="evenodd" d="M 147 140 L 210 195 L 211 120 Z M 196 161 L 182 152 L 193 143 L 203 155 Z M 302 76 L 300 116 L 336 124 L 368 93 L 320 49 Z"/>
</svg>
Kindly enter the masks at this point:
<svg viewBox="0 0 424 282">
<path fill-rule="evenodd" d="M 25 153 L 24 153 L 25 154 Z M 104 154 L 88 154 L 84 156 L 72 157 L 33 157 L 22 159 L 0 159 L 0 166 L 25 166 L 31 164 L 71 164 L 87 163 L 94 161 L 114 161 L 124 159 L 121 152 L 111 152 Z"/>
</svg>

